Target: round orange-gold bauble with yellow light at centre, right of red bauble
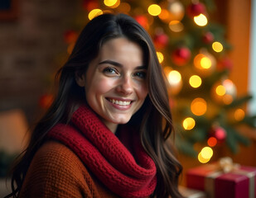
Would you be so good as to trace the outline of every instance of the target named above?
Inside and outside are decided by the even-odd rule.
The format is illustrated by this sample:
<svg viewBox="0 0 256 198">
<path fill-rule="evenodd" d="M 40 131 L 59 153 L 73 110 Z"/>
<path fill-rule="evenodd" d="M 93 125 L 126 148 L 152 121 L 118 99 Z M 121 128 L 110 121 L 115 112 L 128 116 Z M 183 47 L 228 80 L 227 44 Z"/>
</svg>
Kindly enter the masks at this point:
<svg viewBox="0 0 256 198">
<path fill-rule="evenodd" d="M 200 50 L 200 53 L 195 56 L 194 66 L 197 73 L 206 77 L 215 70 L 216 59 L 207 50 L 203 49 Z"/>
</svg>

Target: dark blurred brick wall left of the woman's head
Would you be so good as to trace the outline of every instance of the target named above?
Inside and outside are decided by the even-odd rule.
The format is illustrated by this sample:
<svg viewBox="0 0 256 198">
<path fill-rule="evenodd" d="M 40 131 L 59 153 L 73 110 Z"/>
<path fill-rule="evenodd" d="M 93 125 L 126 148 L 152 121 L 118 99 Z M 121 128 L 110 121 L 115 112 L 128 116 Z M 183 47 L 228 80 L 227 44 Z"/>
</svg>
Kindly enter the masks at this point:
<svg viewBox="0 0 256 198">
<path fill-rule="evenodd" d="M 38 100 L 65 58 L 63 33 L 75 16 L 70 0 L 17 1 L 17 19 L 0 21 L 0 111 L 21 108 L 33 121 Z"/>
</svg>

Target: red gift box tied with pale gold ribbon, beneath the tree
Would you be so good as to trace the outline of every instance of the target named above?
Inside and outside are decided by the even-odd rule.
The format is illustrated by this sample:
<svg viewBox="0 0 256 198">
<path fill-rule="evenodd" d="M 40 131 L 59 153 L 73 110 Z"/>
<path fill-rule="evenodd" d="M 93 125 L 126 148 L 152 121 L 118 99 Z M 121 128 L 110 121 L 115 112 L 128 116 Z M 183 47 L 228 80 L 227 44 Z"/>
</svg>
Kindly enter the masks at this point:
<svg viewBox="0 0 256 198">
<path fill-rule="evenodd" d="M 186 172 L 186 186 L 205 191 L 210 198 L 256 198 L 256 167 L 240 166 L 224 172 L 219 163 Z"/>
</svg>

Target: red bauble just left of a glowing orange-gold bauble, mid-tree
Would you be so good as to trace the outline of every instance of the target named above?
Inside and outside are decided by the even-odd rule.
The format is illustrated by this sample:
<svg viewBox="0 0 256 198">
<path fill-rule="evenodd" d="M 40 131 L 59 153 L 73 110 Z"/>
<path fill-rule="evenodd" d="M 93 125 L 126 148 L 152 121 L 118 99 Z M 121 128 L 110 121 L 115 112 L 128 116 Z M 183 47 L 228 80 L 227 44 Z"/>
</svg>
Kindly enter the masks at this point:
<svg viewBox="0 0 256 198">
<path fill-rule="evenodd" d="M 187 47 L 179 47 L 171 53 L 171 60 L 174 64 L 182 66 L 191 59 L 191 50 Z"/>
</svg>

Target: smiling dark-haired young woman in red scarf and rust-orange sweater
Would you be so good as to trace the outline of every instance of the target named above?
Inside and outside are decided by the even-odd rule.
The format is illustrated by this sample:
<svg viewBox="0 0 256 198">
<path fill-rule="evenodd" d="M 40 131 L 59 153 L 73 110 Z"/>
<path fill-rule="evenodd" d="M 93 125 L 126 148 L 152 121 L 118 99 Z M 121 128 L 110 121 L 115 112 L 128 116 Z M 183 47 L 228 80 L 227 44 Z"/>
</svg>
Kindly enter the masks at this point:
<svg viewBox="0 0 256 198">
<path fill-rule="evenodd" d="M 150 36 L 124 14 L 89 21 L 12 175 L 13 197 L 181 197 L 167 87 Z"/>
</svg>

